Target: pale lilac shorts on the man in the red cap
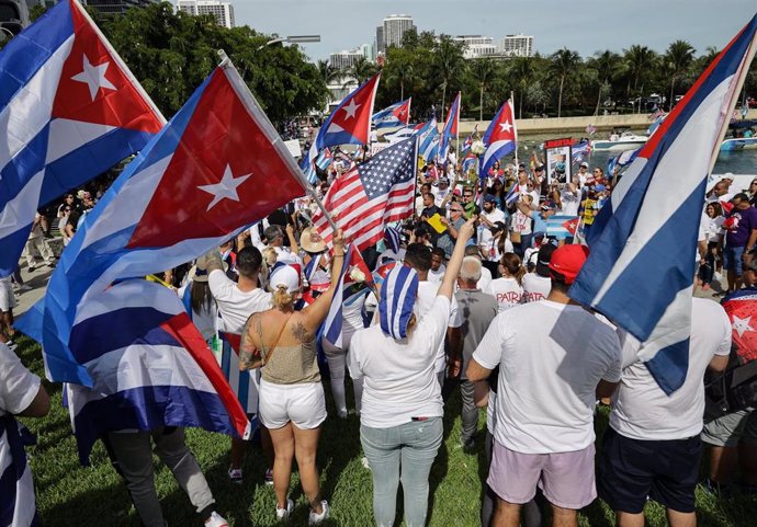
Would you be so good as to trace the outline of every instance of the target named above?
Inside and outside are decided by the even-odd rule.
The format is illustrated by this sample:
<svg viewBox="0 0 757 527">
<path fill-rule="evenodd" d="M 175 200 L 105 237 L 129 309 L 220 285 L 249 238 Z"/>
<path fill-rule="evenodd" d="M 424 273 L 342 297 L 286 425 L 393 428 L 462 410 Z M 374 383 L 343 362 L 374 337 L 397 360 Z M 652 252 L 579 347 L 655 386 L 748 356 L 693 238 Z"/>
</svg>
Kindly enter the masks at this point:
<svg viewBox="0 0 757 527">
<path fill-rule="evenodd" d="M 530 502 L 539 485 L 550 503 L 577 511 L 597 497 L 594 455 L 594 443 L 573 452 L 521 454 L 495 439 L 486 482 L 508 503 Z"/>
</svg>

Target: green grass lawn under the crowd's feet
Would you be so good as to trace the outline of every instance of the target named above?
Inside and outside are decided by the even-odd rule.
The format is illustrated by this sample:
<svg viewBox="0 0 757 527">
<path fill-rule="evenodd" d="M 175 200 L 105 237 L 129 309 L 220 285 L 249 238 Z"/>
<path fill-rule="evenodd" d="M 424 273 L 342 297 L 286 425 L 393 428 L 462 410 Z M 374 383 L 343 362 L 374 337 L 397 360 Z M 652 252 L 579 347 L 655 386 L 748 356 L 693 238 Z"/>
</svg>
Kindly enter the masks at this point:
<svg viewBox="0 0 757 527">
<path fill-rule="evenodd" d="M 18 350 L 23 363 L 43 376 L 39 346 L 22 339 Z M 91 467 L 81 467 L 68 413 L 60 404 L 60 386 L 49 385 L 52 410 L 43 420 L 24 419 L 38 435 L 38 445 L 29 450 L 37 493 L 37 507 L 46 527 L 90 526 L 108 527 L 139 525 L 121 479 L 111 468 L 102 444 L 91 457 Z M 326 390 L 327 394 L 329 390 Z M 328 396 L 327 396 L 328 397 Z M 355 416 L 336 419 L 330 401 L 329 419 L 324 426 L 318 462 L 324 496 L 331 504 L 329 526 L 370 526 L 372 516 L 371 472 L 363 468 Z M 431 527 L 467 527 L 478 525 L 479 495 L 485 469 L 483 443 L 478 439 L 476 455 L 464 454 L 457 446 L 460 438 L 460 396 L 454 392 L 447 404 L 445 439 L 431 471 L 429 525 Z M 607 425 L 607 414 L 597 420 L 598 433 Z M 481 415 L 481 428 L 485 414 Z M 245 483 L 236 485 L 226 476 L 229 439 L 200 429 L 189 429 L 188 444 L 202 467 L 216 499 L 217 511 L 231 525 L 276 525 L 272 486 L 263 484 L 264 463 L 259 448 L 250 448 L 245 462 Z M 157 463 L 157 459 L 156 459 Z M 192 506 L 179 489 L 170 471 L 158 465 L 158 494 L 163 514 L 171 526 L 200 525 Z M 296 503 L 291 525 L 307 525 L 306 500 L 298 486 L 296 472 L 292 480 L 292 499 Z M 757 496 L 736 494 L 730 499 L 714 499 L 697 493 L 699 522 L 712 527 L 752 527 L 757 525 Z M 667 525 L 664 509 L 655 503 L 646 508 L 648 525 Z M 398 516 L 402 515 L 402 505 Z M 600 501 L 581 512 L 581 526 L 614 525 L 613 514 Z M 400 520 L 397 520 L 400 525 Z"/>
</svg>

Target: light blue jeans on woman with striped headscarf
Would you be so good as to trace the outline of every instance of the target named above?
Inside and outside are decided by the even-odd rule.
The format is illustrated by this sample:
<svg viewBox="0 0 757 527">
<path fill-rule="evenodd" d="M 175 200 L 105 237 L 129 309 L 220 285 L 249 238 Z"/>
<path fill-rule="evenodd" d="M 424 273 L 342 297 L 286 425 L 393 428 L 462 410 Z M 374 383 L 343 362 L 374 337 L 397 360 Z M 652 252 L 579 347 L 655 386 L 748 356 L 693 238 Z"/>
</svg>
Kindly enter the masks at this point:
<svg viewBox="0 0 757 527">
<path fill-rule="evenodd" d="M 405 524 L 407 527 L 426 525 L 429 472 L 442 434 L 441 417 L 411 421 L 391 428 L 360 427 L 360 442 L 373 472 L 373 517 L 376 526 L 394 525 L 400 465 Z"/>
</svg>

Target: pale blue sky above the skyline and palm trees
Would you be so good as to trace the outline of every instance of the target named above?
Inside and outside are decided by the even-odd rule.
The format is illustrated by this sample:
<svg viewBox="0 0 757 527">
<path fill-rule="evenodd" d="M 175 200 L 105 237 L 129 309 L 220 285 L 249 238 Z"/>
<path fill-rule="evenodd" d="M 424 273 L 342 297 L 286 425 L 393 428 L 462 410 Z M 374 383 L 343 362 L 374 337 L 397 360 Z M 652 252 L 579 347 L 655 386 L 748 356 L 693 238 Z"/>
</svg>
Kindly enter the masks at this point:
<svg viewBox="0 0 757 527">
<path fill-rule="evenodd" d="M 757 13 L 755 0 L 230 0 L 238 25 L 263 33 L 319 34 L 304 44 L 313 59 L 373 44 L 389 14 L 409 14 L 418 31 L 485 35 L 533 35 L 534 50 L 562 47 L 583 57 L 642 44 L 664 51 L 688 41 L 697 54 L 723 46 Z"/>
</svg>

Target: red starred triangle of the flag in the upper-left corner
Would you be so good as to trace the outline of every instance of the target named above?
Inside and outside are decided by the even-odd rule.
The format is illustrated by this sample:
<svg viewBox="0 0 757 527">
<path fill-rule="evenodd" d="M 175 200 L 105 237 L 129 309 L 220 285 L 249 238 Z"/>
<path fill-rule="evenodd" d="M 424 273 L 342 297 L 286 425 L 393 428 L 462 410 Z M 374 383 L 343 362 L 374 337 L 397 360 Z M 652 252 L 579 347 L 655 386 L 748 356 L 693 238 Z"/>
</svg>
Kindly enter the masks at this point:
<svg viewBox="0 0 757 527">
<path fill-rule="evenodd" d="M 60 73 L 53 117 L 158 133 L 162 116 L 129 80 L 79 3 L 68 1 L 74 44 Z"/>
</svg>

